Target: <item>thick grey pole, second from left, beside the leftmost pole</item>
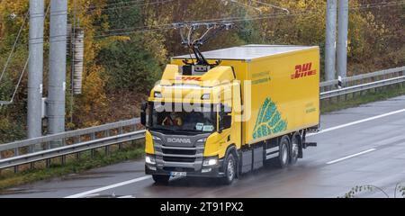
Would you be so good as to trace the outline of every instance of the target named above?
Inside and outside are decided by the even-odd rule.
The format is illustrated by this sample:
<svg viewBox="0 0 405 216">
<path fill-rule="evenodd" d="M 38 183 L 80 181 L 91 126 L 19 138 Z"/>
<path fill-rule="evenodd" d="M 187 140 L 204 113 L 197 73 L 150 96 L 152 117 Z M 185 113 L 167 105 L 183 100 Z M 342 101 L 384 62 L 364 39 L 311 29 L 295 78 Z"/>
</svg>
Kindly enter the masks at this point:
<svg viewBox="0 0 405 216">
<path fill-rule="evenodd" d="M 67 0 L 50 1 L 48 121 L 49 134 L 65 131 Z M 59 142 L 51 143 L 57 148 Z"/>
</svg>

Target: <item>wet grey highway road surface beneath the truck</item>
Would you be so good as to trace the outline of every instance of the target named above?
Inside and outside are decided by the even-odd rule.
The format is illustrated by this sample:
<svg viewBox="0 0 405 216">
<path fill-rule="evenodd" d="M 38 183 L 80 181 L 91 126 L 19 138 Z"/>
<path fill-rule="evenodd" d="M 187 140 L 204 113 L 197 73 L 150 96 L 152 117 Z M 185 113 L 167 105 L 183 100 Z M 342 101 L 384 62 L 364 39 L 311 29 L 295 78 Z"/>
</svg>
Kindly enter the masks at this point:
<svg viewBox="0 0 405 216">
<path fill-rule="evenodd" d="M 317 148 L 286 169 L 265 167 L 232 185 L 177 178 L 169 185 L 144 175 L 143 160 L 96 168 L 79 175 L 27 184 L 1 197 L 340 197 L 372 184 L 390 197 L 405 185 L 405 96 L 322 115 Z M 385 197 L 379 190 L 359 197 Z"/>
</svg>

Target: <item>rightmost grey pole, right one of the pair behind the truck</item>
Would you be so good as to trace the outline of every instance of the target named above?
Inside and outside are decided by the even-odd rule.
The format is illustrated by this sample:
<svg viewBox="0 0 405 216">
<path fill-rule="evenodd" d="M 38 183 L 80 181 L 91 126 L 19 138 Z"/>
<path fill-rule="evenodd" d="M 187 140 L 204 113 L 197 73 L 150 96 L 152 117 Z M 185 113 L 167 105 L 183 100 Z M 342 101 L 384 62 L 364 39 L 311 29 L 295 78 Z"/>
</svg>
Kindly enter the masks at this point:
<svg viewBox="0 0 405 216">
<path fill-rule="evenodd" d="M 347 76 L 348 0 L 339 0 L 338 12 L 338 76 Z"/>
</svg>

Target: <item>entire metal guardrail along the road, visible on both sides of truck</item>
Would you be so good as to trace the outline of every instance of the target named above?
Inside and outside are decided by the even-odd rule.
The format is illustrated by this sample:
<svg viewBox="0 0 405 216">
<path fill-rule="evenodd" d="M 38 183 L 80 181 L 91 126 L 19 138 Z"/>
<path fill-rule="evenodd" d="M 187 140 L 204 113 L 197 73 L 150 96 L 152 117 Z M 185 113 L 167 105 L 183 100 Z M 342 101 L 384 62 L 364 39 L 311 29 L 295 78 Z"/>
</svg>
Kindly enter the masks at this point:
<svg viewBox="0 0 405 216">
<path fill-rule="evenodd" d="M 395 74 L 398 76 L 392 77 Z M 378 76 L 391 76 L 391 78 L 365 83 L 367 82 L 366 79 L 377 79 Z M 320 84 L 321 100 L 345 94 L 354 94 L 388 85 L 403 84 L 405 83 L 405 67 L 392 68 L 360 76 L 351 76 L 344 79 L 345 84 L 350 82 L 362 82 L 365 84 L 353 85 L 325 92 L 322 91 L 322 89 L 333 88 L 333 85 L 338 84 L 338 80 L 323 82 Z M 14 171 L 17 172 L 18 166 L 24 164 L 49 160 L 53 157 L 63 158 L 67 155 L 78 154 L 85 150 L 92 150 L 93 155 L 95 148 L 108 148 L 111 145 L 121 145 L 123 142 L 144 139 L 145 130 L 137 130 L 138 124 L 139 119 L 131 119 L 128 121 L 119 121 L 82 130 L 67 131 L 36 139 L 26 139 L 3 144 L 0 145 L 0 170 L 14 166 Z M 50 142 L 54 141 L 61 142 L 63 146 L 59 148 L 50 148 Z M 35 151 L 35 148 L 38 148 L 39 146 L 44 147 L 44 150 Z M 2 158 L 2 152 L 8 152 L 9 155 L 11 154 L 12 156 Z"/>
</svg>

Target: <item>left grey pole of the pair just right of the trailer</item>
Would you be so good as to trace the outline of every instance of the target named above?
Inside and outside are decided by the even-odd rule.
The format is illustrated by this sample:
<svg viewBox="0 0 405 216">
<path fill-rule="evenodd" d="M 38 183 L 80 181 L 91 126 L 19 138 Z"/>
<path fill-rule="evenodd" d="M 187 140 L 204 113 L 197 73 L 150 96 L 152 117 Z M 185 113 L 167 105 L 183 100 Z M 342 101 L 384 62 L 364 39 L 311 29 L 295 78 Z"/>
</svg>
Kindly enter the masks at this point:
<svg viewBox="0 0 405 216">
<path fill-rule="evenodd" d="M 336 30 L 338 18 L 338 0 L 327 2 L 327 26 L 325 42 L 325 78 L 333 80 L 336 78 Z"/>
</svg>

